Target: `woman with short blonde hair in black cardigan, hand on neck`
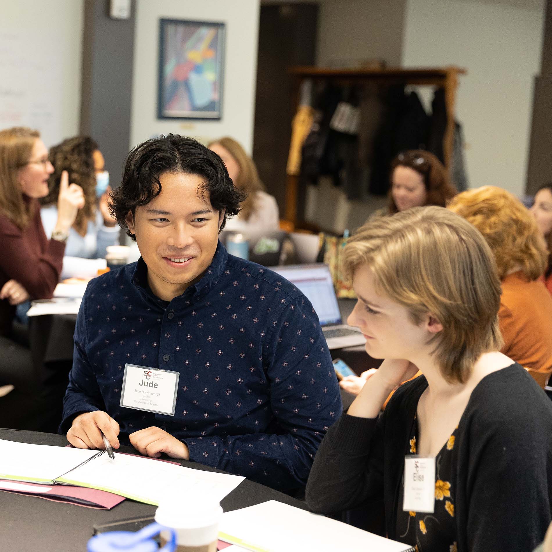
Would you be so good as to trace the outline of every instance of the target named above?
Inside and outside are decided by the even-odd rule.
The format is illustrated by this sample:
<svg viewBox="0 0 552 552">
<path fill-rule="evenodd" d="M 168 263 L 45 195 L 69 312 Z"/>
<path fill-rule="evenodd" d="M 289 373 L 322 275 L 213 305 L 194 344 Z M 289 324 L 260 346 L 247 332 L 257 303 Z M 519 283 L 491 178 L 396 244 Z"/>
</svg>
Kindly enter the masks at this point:
<svg viewBox="0 0 552 552">
<path fill-rule="evenodd" d="M 481 233 L 413 208 L 363 226 L 343 257 L 358 296 L 348 323 L 385 360 L 323 439 L 307 505 L 383 498 L 388 537 L 423 552 L 532 550 L 550 522 L 552 404 L 498 352 L 500 280 Z"/>
</svg>

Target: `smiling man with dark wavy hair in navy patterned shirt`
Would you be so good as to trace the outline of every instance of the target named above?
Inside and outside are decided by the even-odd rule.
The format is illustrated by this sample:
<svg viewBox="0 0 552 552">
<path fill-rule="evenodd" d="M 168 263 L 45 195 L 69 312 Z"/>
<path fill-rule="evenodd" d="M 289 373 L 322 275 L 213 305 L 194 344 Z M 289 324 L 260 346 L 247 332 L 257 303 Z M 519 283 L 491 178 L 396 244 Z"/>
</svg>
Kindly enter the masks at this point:
<svg viewBox="0 0 552 552">
<path fill-rule="evenodd" d="M 104 448 L 103 432 L 115 448 L 305 486 L 341 414 L 337 380 L 309 300 L 218 241 L 243 199 L 193 139 L 129 153 L 112 209 L 141 258 L 84 295 L 60 426 L 75 447 Z"/>
</svg>

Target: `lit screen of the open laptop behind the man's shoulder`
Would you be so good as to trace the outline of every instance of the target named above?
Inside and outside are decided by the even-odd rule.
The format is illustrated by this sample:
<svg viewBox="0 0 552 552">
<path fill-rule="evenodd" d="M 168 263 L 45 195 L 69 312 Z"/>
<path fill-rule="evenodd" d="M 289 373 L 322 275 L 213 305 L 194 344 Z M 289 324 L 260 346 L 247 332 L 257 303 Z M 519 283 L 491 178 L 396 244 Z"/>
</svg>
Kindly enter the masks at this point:
<svg viewBox="0 0 552 552">
<path fill-rule="evenodd" d="M 321 326 L 341 324 L 341 312 L 333 290 L 332 275 L 325 264 L 295 264 L 270 267 L 270 270 L 281 274 L 307 296 Z"/>
</svg>

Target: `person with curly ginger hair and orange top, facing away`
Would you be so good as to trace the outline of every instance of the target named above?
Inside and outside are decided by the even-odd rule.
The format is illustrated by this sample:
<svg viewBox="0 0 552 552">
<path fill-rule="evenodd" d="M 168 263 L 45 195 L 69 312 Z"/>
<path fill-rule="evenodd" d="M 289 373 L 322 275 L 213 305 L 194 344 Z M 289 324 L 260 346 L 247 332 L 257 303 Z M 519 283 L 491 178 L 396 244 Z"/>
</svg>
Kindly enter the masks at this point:
<svg viewBox="0 0 552 552">
<path fill-rule="evenodd" d="M 552 297 L 540 281 L 548 253 L 537 222 L 521 201 L 493 186 L 462 192 L 448 207 L 471 222 L 495 254 L 501 351 L 544 388 L 552 372 Z"/>
</svg>

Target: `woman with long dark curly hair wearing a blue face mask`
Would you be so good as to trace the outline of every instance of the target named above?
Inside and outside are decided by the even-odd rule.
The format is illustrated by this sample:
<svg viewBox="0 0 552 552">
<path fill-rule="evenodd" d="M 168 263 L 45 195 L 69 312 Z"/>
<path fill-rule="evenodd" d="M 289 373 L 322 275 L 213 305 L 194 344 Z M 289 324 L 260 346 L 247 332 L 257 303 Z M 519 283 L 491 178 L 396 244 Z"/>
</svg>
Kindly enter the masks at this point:
<svg viewBox="0 0 552 552">
<path fill-rule="evenodd" d="M 69 231 L 65 255 L 96 259 L 105 257 L 105 248 L 119 243 L 119 226 L 109 213 L 109 173 L 98 144 L 88 136 L 63 140 L 50 148 L 50 161 L 55 171 L 48 181 L 49 194 L 40 200 L 41 217 L 46 235 L 54 229 L 57 217 L 56 198 L 63 171 L 71 182 L 78 184 L 84 193 L 84 207 Z M 64 276 L 71 274 L 63 271 Z"/>
</svg>

